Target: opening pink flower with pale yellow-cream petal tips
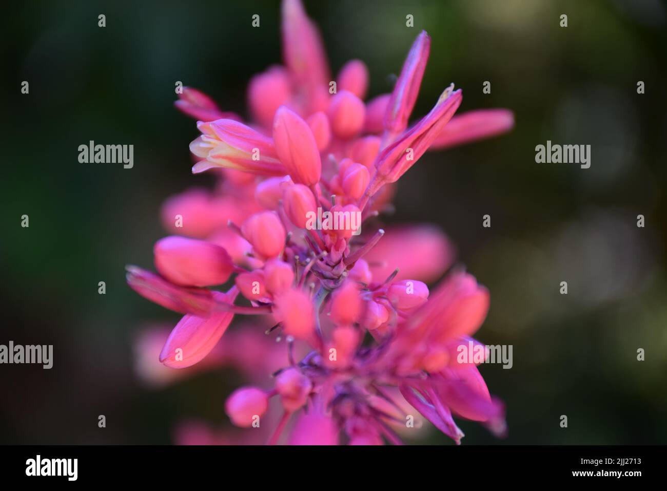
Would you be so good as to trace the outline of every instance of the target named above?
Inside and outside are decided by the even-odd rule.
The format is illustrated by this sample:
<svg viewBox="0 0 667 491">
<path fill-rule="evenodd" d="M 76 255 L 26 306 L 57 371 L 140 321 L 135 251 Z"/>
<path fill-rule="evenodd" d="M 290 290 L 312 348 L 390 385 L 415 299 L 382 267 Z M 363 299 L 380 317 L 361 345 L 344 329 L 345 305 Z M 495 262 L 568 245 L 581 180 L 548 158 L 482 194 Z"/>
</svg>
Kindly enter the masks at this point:
<svg viewBox="0 0 667 491">
<path fill-rule="evenodd" d="M 285 167 L 277 158 L 271 138 L 233 120 L 198 122 L 202 133 L 190 144 L 190 152 L 203 159 L 193 174 L 215 167 L 243 170 L 263 176 L 284 176 Z"/>
</svg>

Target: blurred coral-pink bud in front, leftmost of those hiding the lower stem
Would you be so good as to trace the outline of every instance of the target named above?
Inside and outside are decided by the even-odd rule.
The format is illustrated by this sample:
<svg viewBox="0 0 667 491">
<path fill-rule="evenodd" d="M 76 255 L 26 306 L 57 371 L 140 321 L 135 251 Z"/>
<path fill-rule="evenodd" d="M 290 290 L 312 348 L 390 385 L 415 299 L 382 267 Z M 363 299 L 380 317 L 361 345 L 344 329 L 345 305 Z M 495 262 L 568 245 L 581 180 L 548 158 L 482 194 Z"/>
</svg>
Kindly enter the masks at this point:
<svg viewBox="0 0 667 491">
<path fill-rule="evenodd" d="M 315 330 L 315 309 L 305 291 L 289 289 L 273 301 L 273 317 L 286 335 L 308 340 Z"/>
</svg>

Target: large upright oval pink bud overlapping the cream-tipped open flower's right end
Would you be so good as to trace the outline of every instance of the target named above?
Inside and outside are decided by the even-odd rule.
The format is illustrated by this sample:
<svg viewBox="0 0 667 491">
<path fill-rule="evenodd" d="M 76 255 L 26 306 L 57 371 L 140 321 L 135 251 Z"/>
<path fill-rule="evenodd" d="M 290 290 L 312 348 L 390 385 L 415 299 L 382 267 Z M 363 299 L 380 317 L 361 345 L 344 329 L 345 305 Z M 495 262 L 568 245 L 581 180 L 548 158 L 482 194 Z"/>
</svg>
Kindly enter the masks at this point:
<svg viewBox="0 0 667 491">
<path fill-rule="evenodd" d="M 275 113 L 273 140 L 280 161 L 294 182 L 312 186 L 319 181 L 322 164 L 313 132 L 285 106 Z"/>
</svg>

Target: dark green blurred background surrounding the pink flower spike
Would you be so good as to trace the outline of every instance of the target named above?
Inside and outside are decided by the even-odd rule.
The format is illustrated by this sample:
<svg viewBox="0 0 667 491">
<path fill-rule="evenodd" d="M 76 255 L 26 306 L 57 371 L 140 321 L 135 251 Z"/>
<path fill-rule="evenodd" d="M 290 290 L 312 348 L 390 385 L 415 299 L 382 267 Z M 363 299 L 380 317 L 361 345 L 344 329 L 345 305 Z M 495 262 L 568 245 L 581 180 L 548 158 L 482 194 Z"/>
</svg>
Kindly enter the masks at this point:
<svg viewBox="0 0 667 491">
<path fill-rule="evenodd" d="M 501 138 L 428 154 L 388 222 L 435 222 L 491 292 L 476 337 L 514 345 L 481 368 L 509 436 L 460 422 L 464 444 L 667 442 L 666 5 L 618 1 L 306 1 L 336 73 L 361 58 L 370 96 L 420 31 L 431 57 L 416 115 L 454 82 L 461 110 L 510 108 Z M 107 27 L 97 27 L 97 15 Z M 258 13 L 261 27 L 251 27 Z M 568 27 L 559 16 L 568 15 Z M 0 443 L 169 443 L 184 419 L 225 428 L 243 381 L 216 370 L 148 389 L 133 337 L 179 316 L 125 285 L 150 267 L 165 198 L 193 176 L 193 120 L 175 81 L 247 116 L 245 86 L 280 60 L 277 1 L 11 3 L 1 23 L 0 343 L 53 344 L 54 367 L 0 366 Z M 405 24 L 414 15 L 415 27 Z M 29 81 L 29 95 L 20 94 Z M 492 93 L 482 94 L 491 81 Z M 636 92 L 644 81 L 646 94 Z M 79 164 L 89 140 L 133 144 L 134 168 Z M 536 164 L 546 140 L 591 144 L 592 166 Z M 28 214 L 29 228 L 21 228 Z M 482 215 L 492 227 L 482 227 Z M 644 214 L 646 227 L 636 226 Z M 407 254 L 410 251 L 406 251 Z M 98 295 L 105 281 L 107 294 Z M 568 281 L 568 295 L 559 294 Z M 638 348 L 646 361 L 636 360 Z M 157 359 L 155 360 L 157 363 Z M 97 427 L 97 416 L 107 428 Z M 560 415 L 568 428 L 560 428 Z M 430 443 L 447 442 L 434 434 Z"/>
</svg>

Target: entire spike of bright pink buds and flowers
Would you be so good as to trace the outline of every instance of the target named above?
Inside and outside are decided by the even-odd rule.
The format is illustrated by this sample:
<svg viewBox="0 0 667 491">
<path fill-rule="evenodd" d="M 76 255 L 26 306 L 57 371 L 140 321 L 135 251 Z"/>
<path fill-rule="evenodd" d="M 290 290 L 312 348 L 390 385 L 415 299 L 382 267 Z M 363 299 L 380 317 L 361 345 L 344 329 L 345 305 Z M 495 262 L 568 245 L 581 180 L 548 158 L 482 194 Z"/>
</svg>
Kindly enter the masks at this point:
<svg viewBox="0 0 667 491">
<path fill-rule="evenodd" d="M 241 387 L 225 403 L 231 422 L 253 431 L 279 399 L 269 443 L 289 428 L 291 444 L 400 444 L 396 428 L 410 427 L 412 408 L 457 443 L 453 414 L 502 434 L 502 403 L 456 356 L 486 317 L 488 291 L 454 269 L 430 292 L 424 282 L 452 264 L 446 238 L 428 226 L 386 233 L 378 215 L 424 152 L 506 132 L 512 113 L 454 116 L 462 93 L 450 86 L 410 125 L 426 32 L 392 93 L 364 102 L 366 65 L 346 63 L 333 84 L 299 0 L 283 1 L 282 15 L 285 65 L 251 79 L 251 123 L 192 88 L 175 103 L 201 132 L 190 144 L 193 172 L 215 172 L 219 183 L 165 203 L 163 223 L 178 235 L 155 244 L 157 274 L 127 268 L 135 291 L 184 314 L 159 361 L 190 367 L 215 351 L 235 315 L 272 316 L 267 333 L 284 341 L 284 366 L 272 387 Z M 308 226 L 317 208 L 358 214 L 361 230 Z M 232 277 L 227 291 L 210 288 Z"/>
</svg>

